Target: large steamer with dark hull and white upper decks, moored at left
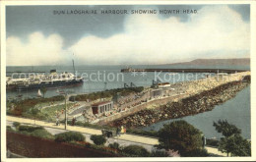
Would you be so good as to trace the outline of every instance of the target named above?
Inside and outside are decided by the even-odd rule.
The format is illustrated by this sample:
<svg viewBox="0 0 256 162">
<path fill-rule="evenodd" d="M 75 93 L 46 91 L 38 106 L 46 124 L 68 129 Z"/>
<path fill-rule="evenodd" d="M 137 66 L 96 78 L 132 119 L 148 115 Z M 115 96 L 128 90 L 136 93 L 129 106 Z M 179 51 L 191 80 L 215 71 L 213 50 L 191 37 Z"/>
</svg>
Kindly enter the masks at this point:
<svg viewBox="0 0 256 162">
<path fill-rule="evenodd" d="M 82 83 L 83 78 L 77 77 L 72 73 L 64 72 L 57 74 L 56 70 L 51 70 L 49 75 L 36 75 L 24 79 L 7 78 L 6 89 L 27 90 L 39 89 L 41 87 L 58 88 Z"/>
</svg>

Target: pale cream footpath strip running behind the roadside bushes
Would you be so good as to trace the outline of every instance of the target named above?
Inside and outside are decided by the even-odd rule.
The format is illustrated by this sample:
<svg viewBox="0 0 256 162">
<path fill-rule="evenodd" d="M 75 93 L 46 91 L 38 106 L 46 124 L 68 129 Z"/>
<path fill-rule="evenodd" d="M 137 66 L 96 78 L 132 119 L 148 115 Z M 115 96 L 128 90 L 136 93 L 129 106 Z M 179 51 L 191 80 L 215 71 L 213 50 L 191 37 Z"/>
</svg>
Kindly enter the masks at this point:
<svg viewBox="0 0 256 162">
<path fill-rule="evenodd" d="M 9 122 L 19 122 L 19 123 L 29 124 L 29 125 L 34 124 L 34 120 L 32 120 L 32 119 L 18 118 L 18 117 L 12 117 L 12 116 L 7 116 L 6 118 L 7 118 L 7 121 L 9 121 Z M 64 125 L 56 126 L 55 123 L 37 121 L 37 120 L 35 120 L 35 125 L 47 127 L 47 128 L 60 129 L 60 130 L 64 130 L 64 128 L 65 128 Z M 100 130 L 77 127 L 77 126 L 67 126 L 67 131 L 74 131 L 74 132 L 79 132 L 79 133 L 89 134 L 89 135 L 102 135 Z M 118 137 L 115 136 L 114 138 L 132 141 L 132 142 L 144 143 L 144 144 L 149 144 L 149 145 L 159 144 L 158 138 L 141 136 L 141 135 L 125 134 L 125 135 L 120 135 Z M 226 156 L 225 153 L 220 152 L 217 148 L 206 147 L 206 149 L 208 150 L 209 153 L 212 153 L 212 154 L 215 154 L 218 156 Z"/>
</svg>

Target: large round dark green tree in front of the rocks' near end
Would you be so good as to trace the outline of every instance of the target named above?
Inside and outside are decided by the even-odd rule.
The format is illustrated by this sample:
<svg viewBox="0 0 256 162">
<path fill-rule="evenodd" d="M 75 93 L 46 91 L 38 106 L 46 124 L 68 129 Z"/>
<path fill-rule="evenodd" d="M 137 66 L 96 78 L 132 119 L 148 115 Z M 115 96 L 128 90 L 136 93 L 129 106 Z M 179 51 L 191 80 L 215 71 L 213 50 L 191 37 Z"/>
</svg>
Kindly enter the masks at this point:
<svg viewBox="0 0 256 162">
<path fill-rule="evenodd" d="M 185 121 L 174 121 L 164 125 L 158 135 L 158 148 L 178 151 L 181 156 L 191 156 L 190 152 L 202 149 L 202 133 Z"/>
</svg>

